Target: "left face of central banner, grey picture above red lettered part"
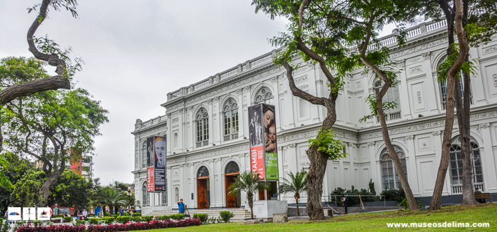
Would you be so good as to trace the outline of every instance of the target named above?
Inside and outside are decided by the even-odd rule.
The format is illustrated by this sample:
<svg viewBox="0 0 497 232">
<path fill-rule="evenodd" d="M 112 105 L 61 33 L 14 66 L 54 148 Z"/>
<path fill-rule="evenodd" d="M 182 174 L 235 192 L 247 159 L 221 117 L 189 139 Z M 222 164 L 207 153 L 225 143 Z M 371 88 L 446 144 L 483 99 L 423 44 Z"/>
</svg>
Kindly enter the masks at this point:
<svg viewBox="0 0 497 232">
<path fill-rule="evenodd" d="M 259 173 L 266 180 L 264 164 L 264 133 L 262 131 L 262 105 L 249 107 L 249 137 L 251 153 L 251 172 Z"/>
</svg>

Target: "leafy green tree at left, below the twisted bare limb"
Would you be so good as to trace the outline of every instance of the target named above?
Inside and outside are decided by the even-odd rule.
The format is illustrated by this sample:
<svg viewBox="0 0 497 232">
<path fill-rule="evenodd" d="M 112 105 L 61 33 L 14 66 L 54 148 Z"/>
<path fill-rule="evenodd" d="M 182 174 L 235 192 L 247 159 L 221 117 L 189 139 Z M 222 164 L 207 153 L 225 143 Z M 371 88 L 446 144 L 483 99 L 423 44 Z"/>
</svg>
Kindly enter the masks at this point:
<svg viewBox="0 0 497 232">
<path fill-rule="evenodd" d="M 19 66 L 30 63 L 30 59 L 22 58 L 3 61 L 16 61 Z M 43 72 L 40 66 L 36 68 L 37 72 Z M 48 179 L 40 189 L 40 204 L 48 203 L 50 186 L 64 173 L 66 162 L 94 150 L 93 137 L 100 135 L 99 126 L 108 122 L 107 113 L 100 101 L 81 88 L 35 93 L 0 108 L 8 149 L 31 155 L 43 164 Z"/>
</svg>

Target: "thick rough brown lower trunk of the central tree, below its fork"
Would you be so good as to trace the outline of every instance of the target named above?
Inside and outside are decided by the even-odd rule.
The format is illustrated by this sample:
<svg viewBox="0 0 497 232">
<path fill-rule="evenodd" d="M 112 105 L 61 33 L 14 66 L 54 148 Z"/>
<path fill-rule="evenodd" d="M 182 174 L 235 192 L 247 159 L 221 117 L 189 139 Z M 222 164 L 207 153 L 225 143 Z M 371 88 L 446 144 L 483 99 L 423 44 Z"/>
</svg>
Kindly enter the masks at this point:
<svg viewBox="0 0 497 232">
<path fill-rule="evenodd" d="M 327 101 L 327 117 L 322 124 L 322 131 L 328 131 L 335 124 L 336 112 L 335 101 Z M 328 155 L 318 151 L 318 146 L 313 144 L 307 150 L 307 156 L 311 162 L 307 172 L 307 205 L 306 212 L 309 220 L 324 220 L 324 211 L 321 202 L 322 182 L 326 171 Z"/>
</svg>

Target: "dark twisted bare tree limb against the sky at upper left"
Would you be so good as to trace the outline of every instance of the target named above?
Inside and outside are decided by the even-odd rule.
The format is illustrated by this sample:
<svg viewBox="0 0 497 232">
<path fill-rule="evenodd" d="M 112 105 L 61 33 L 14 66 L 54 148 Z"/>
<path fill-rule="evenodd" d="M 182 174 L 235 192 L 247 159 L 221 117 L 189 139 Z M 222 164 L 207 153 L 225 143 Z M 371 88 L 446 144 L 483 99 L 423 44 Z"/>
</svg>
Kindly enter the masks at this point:
<svg viewBox="0 0 497 232">
<path fill-rule="evenodd" d="M 17 97 L 28 96 L 46 90 L 57 90 L 61 88 L 70 89 L 72 71 L 81 67 L 81 60 L 75 60 L 76 64 L 75 66 L 72 66 L 72 63 L 68 58 L 70 49 L 62 51 L 58 48 L 57 43 L 49 39 L 36 38 L 34 35 L 41 23 L 47 18 L 49 7 L 52 7 L 57 11 L 61 8 L 65 8 L 71 12 L 73 17 L 77 17 L 76 6 L 76 0 L 43 0 L 41 4 L 28 8 L 28 12 L 32 12 L 32 10 L 36 10 L 39 7 L 39 14 L 28 30 L 27 39 L 29 51 L 36 59 L 45 61 L 46 64 L 50 66 L 57 67 L 55 70 L 57 75 L 53 77 L 47 77 L 46 75 L 31 76 L 25 81 L 14 82 L 10 85 L 2 86 L 3 88 L 0 90 L 0 104 L 7 104 Z M 39 46 L 36 46 L 35 43 L 38 43 Z"/>
</svg>

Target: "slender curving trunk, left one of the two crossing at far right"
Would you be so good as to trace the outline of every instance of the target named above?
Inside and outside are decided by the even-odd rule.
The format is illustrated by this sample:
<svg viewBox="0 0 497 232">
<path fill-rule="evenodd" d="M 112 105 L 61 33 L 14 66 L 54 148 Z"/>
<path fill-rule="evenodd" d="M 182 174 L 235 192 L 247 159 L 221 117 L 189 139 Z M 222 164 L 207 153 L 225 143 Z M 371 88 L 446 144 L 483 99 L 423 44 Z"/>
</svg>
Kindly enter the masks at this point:
<svg viewBox="0 0 497 232">
<path fill-rule="evenodd" d="M 429 206 L 429 209 L 431 210 L 440 209 L 440 200 L 442 198 L 445 175 L 447 174 L 447 168 L 449 166 L 449 153 L 452 142 L 451 136 L 452 127 L 454 125 L 454 88 L 456 86 L 456 75 L 460 71 L 460 68 L 462 67 L 462 64 L 466 59 L 467 52 L 469 51 L 467 32 L 462 26 L 462 1 L 456 0 L 455 5 L 456 17 L 454 24 L 456 28 L 456 34 L 458 36 L 459 54 L 454 64 L 447 71 L 447 104 L 445 107 L 445 129 L 442 141 L 442 157 L 440 159 L 440 166 L 438 167 L 435 188 L 433 189 L 433 197 L 431 197 L 431 203 Z M 448 25 L 450 26 L 451 24 Z M 451 27 L 449 27 L 449 42 L 454 41 L 454 37 L 451 37 L 450 35 L 453 35 L 451 34 Z M 450 48 L 447 53 L 450 55 Z"/>
</svg>

